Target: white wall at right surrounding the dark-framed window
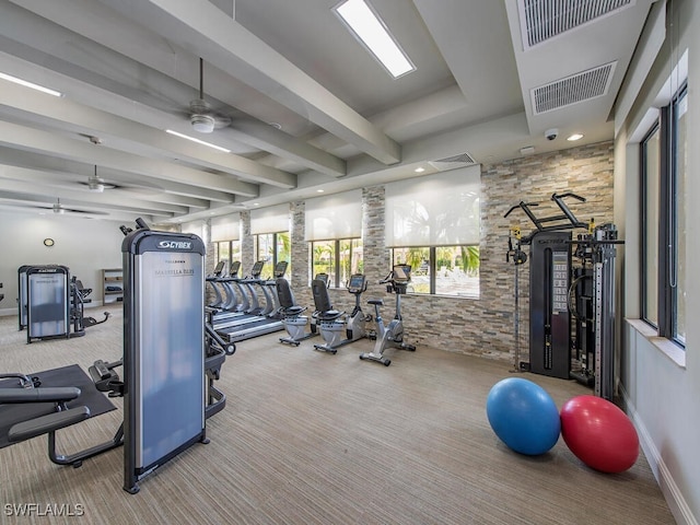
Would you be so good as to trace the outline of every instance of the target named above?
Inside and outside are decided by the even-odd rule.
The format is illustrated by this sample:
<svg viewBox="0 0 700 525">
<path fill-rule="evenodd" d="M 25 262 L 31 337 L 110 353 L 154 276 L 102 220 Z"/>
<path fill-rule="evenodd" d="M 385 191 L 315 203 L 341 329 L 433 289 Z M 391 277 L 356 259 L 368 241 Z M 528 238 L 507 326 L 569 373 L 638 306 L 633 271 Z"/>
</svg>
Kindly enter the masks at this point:
<svg viewBox="0 0 700 525">
<path fill-rule="evenodd" d="M 662 8 L 664 2 L 657 2 Z M 673 10 L 666 20 L 665 43 L 646 75 L 637 101 L 616 137 L 615 189 L 626 188 L 622 197 L 625 240 L 625 316 L 620 390 L 639 430 L 642 447 L 678 523 L 697 524 L 700 518 L 700 279 L 689 275 L 686 298 L 687 346 L 679 350 L 670 341 L 656 337 L 639 317 L 639 145 L 634 137 L 644 126 L 643 116 L 654 107 L 660 86 L 669 77 L 672 66 L 688 49 L 688 187 L 686 268 L 700 257 L 700 5 L 697 0 L 669 1 Z M 638 49 L 641 52 L 641 49 Z M 628 73 L 628 79 L 630 75 Z"/>
</svg>

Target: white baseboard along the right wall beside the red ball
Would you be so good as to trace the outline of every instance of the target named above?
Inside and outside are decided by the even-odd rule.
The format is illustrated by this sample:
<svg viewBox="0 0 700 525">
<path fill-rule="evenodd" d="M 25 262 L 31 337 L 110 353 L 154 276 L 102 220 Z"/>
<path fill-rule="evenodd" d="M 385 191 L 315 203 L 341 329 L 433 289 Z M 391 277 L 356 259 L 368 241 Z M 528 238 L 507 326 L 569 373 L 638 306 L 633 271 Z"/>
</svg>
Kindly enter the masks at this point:
<svg viewBox="0 0 700 525">
<path fill-rule="evenodd" d="M 692 510 L 688 506 L 686 499 L 682 495 L 682 491 L 676 483 L 673 474 L 664 463 L 664 458 L 658 453 L 658 448 L 656 444 L 653 442 L 644 422 L 641 420 L 639 413 L 637 412 L 637 407 L 632 404 L 629 398 L 627 392 L 620 385 L 620 394 L 622 395 L 622 399 L 625 400 L 625 406 L 627 407 L 628 415 L 632 419 L 634 423 L 634 428 L 639 434 L 639 442 L 642 451 L 644 452 L 644 456 L 649 462 L 649 466 L 654 472 L 654 477 L 656 478 L 656 482 L 661 488 L 664 498 L 666 499 L 666 503 L 668 503 L 668 509 L 670 509 L 672 514 L 676 518 L 676 523 L 678 525 L 698 525 L 698 518 L 692 514 Z"/>
</svg>

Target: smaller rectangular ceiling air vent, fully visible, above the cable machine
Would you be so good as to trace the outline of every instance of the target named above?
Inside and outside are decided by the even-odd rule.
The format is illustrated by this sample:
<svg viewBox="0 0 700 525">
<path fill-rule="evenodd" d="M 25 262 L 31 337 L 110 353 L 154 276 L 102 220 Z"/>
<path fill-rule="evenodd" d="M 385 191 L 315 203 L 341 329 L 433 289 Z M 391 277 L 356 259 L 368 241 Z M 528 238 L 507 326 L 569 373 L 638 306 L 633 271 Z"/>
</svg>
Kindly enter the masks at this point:
<svg viewBox="0 0 700 525">
<path fill-rule="evenodd" d="M 530 90 L 533 113 L 551 112 L 608 92 L 617 61 Z"/>
</svg>

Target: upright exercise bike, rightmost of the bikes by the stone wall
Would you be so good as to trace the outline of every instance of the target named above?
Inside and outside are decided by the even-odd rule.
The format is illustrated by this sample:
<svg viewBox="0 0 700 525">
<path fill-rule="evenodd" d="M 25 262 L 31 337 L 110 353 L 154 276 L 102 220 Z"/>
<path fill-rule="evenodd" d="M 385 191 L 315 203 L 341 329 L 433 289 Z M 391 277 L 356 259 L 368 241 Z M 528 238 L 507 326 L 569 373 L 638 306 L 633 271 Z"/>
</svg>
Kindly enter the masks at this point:
<svg viewBox="0 0 700 525">
<path fill-rule="evenodd" d="M 410 265 L 394 265 L 392 271 L 380 281 L 380 284 L 387 284 L 386 291 L 396 293 L 396 314 L 388 325 L 384 324 L 380 306 L 384 305 L 382 299 L 371 299 L 368 304 L 374 305 L 377 335 L 374 350 L 360 354 L 360 359 L 376 361 L 385 366 L 392 364 L 392 360 L 384 357 L 387 348 L 399 348 L 401 350 L 415 351 L 416 347 L 404 342 L 404 320 L 401 319 L 401 295 L 406 293 L 408 283 L 411 281 Z"/>
</svg>

